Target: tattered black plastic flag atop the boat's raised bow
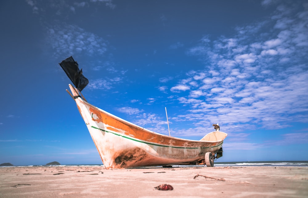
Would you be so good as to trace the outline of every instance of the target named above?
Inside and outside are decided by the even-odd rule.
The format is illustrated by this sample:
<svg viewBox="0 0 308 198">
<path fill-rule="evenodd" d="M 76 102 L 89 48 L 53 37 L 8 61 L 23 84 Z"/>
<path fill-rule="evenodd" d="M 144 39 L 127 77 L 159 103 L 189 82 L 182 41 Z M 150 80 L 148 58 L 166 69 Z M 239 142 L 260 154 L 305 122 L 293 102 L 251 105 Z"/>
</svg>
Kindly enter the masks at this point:
<svg viewBox="0 0 308 198">
<path fill-rule="evenodd" d="M 79 91 L 82 91 L 87 86 L 89 81 L 82 75 L 82 69 L 79 70 L 78 63 L 74 61 L 72 56 L 63 60 L 59 65 Z"/>
</svg>

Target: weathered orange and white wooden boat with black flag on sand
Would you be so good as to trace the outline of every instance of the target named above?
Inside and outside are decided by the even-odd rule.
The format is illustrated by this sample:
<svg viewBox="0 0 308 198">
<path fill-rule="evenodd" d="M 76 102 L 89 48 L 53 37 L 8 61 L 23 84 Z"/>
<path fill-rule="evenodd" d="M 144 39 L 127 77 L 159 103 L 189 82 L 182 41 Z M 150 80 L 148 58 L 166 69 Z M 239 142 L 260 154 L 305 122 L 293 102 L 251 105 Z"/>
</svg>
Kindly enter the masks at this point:
<svg viewBox="0 0 308 198">
<path fill-rule="evenodd" d="M 182 139 L 150 131 L 88 103 L 81 94 L 88 80 L 83 76 L 82 70 L 79 71 L 78 63 L 69 57 L 59 64 L 70 79 L 73 79 L 75 87 L 69 84 L 71 92 L 66 91 L 75 100 L 105 168 L 200 164 L 213 167 L 214 160 L 222 156 L 222 144 L 227 134 L 219 131 L 218 124 L 213 124 L 216 131 L 200 140 Z"/>
</svg>

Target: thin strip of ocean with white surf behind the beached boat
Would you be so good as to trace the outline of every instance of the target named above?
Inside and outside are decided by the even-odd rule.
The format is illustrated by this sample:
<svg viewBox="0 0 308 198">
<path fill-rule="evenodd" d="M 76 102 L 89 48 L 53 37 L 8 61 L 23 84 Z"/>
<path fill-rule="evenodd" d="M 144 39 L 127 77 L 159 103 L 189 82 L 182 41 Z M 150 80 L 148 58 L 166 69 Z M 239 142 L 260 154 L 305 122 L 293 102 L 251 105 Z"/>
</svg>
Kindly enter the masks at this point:
<svg viewBox="0 0 308 198">
<path fill-rule="evenodd" d="M 2 166 L 2 167 L 37 167 L 47 165 L 30 165 L 30 166 Z M 57 166 L 104 166 L 103 164 L 67 164 Z M 203 167 L 204 165 L 173 165 L 172 167 Z M 246 162 L 216 162 L 214 161 L 214 167 L 225 166 L 306 166 L 308 167 L 308 161 L 246 161 Z M 159 167 L 159 166 L 158 166 Z M 0 167 L 1 168 L 1 167 Z"/>
</svg>

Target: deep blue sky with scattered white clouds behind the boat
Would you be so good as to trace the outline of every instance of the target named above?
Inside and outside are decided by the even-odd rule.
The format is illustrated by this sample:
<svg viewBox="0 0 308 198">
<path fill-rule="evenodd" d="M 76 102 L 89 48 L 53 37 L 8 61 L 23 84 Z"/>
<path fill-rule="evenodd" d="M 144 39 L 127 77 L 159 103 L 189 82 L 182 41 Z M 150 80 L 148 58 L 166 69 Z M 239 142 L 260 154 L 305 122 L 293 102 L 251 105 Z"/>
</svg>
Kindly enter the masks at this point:
<svg viewBox="0 0 308 198">
<path fill-rule="evenodd" d="M 217 162 L 308 160 L 308 2 L 0 2 L 0 164 L 102 164 L 87 101 L 149 130 L 228 134 Z"/>
</svg>

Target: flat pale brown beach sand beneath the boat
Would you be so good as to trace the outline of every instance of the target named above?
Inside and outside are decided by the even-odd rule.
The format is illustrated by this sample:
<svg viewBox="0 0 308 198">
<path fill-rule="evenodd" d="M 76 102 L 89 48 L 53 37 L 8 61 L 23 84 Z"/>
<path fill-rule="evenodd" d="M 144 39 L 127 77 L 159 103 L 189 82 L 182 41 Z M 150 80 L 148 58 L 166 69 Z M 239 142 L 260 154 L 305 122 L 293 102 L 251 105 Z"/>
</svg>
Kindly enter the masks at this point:
<svg viewBox="0 0 308 198">
<path fill-rule="evenodd" d="M 2 167 L 0 197 L 308 197 L 308 167 Z"/>
</svg>

